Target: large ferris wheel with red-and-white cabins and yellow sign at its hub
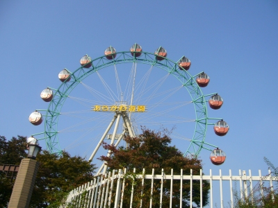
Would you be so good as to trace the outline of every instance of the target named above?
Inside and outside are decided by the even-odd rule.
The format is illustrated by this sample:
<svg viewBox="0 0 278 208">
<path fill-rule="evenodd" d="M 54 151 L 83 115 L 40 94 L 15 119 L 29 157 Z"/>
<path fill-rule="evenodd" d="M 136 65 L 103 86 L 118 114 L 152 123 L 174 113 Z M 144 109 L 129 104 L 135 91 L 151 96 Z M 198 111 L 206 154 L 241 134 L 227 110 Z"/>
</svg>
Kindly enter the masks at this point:
<svg viewBox="0 0 278 208">
<path fill-rule="evenodd" d="M 218 110 L 223 99 L 202 93 L 210 78 L 204 71 L 190 75 L 191 62 L 185 56 L 173 61 L 163 47 L 148 53 L 133 44 L 123 52 L 109 46 L 95 59 L 84 55 L 80 64 L 75 71 L 58 73 L 60 86 L 40 94 L 49 103 L 47 109 L 29 116 L 33 125 L 44 123 L 44 130 L 31 139 L 44 140 L 51 153 L 74 148 L 95 162 L 109 156 L 101 146 L 104 141 L 124 146 L 126 135 L 136 137 L 141 128 L 149 128 L 170 130 L 185 156 L 197 156 L 204 148 L 211 150 L 213 164 L 226 159 L 218 146 L 205 141 L 206 130 L 218 136 L 229 131 L 223 119 L 208 117 L 207 103 Z"/>
</svg>

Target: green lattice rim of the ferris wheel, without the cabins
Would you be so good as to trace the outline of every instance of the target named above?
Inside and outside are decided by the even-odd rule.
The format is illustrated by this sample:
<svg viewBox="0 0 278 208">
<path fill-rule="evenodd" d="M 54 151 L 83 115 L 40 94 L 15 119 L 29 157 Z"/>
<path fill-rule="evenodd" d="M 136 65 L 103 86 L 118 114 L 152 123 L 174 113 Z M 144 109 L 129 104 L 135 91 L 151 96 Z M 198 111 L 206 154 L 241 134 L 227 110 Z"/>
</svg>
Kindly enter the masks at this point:
<svg viewBox="0 0 278 208">
<path fill-rule="evenodd" d="M 184 155 L 197 156 L 199 155 L 202 148 L 206 150 L 211 150 L 210 147 L 217 148 L 217 146 L 205 142 L 206 130 L 208 125 L 214 124 L 208 123 L 208 121 L 212 118 L 208 118 L 206 107 L 206 96 L 211 96 L 212 94 L 204 95 L 199 85 L 197 85 L 195 77 L 198 76 L 199 73 L 197 73 L 197 75 L 195 76 L 191 76 L 188 71 L 179 69 L 179 61 L 174 62 L 168 58 L 165 58 L 162 61 L 158 61 L 156 60 L 156 55 L 154 55 L 154 53 L 143 51 L 141 53 L 142 54 L 136 58 L 135 55 L 131 55 L 130 51 L 118 52 L 116 53 L 116 58 L 113 58 L 113 60 L 108 60 L 104 55 L 92 60 L 92 67 L 79 67 L 74 72 L 71 72 L 70 80 L 68 82 L 63 82 L 60 87 L 58 87 L 58 89 L 54 89 L 54 95 L 51 102 L 49 103 L 48 109 L 38 110 L 45 111 L 44 132 L 34 134 L 33 136 L 44 135 L 39 140 L 44 139 L 46 141 L 47 150 L 49 150 L 51 153 L 61 153 L 57 130 L 58 119 L 60 116 L 60 110 L 62 109 L 65 100 L 70 95 L 72 90 L 76 87 L 76 85 L 81 83 L 84 78 L 90 76 L 96 71 L 99 71 L 100 69 L 104 69 L 115 64 L 136 62 L 140 64 L 149 64 L 167 71 L 167 73 L 170 73 L 172 76 L 177 78 L 181 82 L 183 87 L 186 87 L 188 93 L 190 94 L 192 103 L 195 107 L 195 132 L 193 134 L 193 138 L 190 141 L 190 145 L 188 146 Z"/>
</svg>

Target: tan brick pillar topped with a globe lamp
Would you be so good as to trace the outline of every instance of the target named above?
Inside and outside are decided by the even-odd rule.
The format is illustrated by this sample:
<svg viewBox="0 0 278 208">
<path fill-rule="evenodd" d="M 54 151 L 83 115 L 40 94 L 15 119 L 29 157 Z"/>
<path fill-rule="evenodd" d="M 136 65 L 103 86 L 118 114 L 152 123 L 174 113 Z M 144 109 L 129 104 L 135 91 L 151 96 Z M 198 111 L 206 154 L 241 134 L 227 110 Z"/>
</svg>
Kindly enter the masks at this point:
<svg viewBox="0 0 278 208">
<path fill-rule="evenodd" d="M 20 163 L 8 208 L 29 207 L 35 185 L 35 177 L 37 176 L 39 168 L 39 162 L 36 161 L 35 158 L 40 149 L 41 147 L 38 146 L 38 141 L 36 139 L 28 144 L 28 158 L 22 159 Z"/>
</svg>

